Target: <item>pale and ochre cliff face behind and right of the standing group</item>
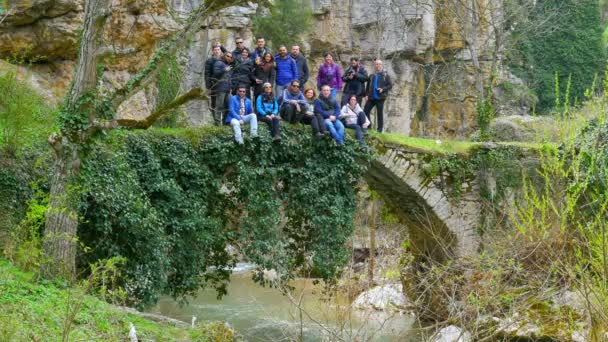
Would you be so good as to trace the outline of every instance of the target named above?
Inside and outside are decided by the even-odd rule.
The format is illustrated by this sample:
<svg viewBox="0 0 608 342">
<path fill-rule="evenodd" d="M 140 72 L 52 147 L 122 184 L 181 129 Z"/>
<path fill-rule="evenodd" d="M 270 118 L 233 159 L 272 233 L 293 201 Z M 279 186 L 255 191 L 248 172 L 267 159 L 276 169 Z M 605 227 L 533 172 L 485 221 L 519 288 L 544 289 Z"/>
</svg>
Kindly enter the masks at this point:
<svg viewBox="0 0 608 342">
<path fill-rule="evenodd" d="M 460 2 L 432 0 L 315 1 L 317 25 L 309 39 L 318 69 L 323 51 L 343 65 L 359 56 L 368 71 L 382 58 L 395 80 L 385 104 L 389 132 L 415 136 L 462 137 L 476 129 L 477 76 L 486 83 L 493 64 L 493 31 L 487 23 L 462 22 L 469 11 Z M 486 4 L 487 5 L 487 4 Z M 482 8 L 484 5 L 480 5 Z M 494 18 L 496 12 L 484 15 Z M 477 34 L 471 34 L 476 25 Z M 468 42 L 468 43 L 467 43 Z M 474 67 L 473 55 L 479 60 Z"/>
</svg>

